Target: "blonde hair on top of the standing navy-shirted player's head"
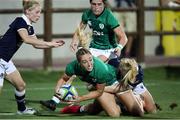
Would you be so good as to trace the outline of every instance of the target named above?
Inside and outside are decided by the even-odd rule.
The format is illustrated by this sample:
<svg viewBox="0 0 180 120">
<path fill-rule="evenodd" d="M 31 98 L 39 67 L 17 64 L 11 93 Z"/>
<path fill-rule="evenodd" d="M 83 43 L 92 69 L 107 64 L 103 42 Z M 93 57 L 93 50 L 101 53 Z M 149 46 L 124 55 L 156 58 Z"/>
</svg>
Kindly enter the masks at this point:
<svg viewBox="0 0 180 120">
<path fill-rule="evenodd" d="M 40 6 L 40 2 L 38 0 L 23 0 L 23 11 L 25 12 L 26 10 L 32 10 L 36 6 Z"/>
</svg>

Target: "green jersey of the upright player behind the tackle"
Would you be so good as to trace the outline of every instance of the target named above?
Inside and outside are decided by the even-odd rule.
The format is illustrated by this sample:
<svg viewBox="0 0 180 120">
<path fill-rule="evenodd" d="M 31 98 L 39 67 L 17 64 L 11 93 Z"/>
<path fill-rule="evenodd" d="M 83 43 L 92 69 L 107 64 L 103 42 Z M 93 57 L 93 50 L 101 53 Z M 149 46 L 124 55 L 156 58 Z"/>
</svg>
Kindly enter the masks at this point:
<svg viewBox="0 0 180 120">
<path fill-rule="evenodd" d="M 119 23 L 109 9 L 105 8 L 98 17 L 88 9 L 82 15 L 82 22 L 88 24 L 93 32 L 90 48 L 105 50 L 117 47 L 113 29 L 118 27 Z"/>
</svg>

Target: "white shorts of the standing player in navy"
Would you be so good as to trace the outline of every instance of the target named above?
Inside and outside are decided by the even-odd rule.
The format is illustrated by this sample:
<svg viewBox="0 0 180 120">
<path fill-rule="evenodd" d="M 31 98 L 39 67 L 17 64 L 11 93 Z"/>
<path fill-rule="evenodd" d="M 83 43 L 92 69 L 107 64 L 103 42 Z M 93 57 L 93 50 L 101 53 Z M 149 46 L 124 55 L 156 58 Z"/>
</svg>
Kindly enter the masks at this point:
<svg viewBox="0 0 180 120">
<path fill-rule="evenodd" d="M 3 86 L 5 75 L 8 75 L 15 70 L 16 67 L 11 60 L 9 62 L 6 62 L 0 58 L 0 87 Z"/>
</svg>

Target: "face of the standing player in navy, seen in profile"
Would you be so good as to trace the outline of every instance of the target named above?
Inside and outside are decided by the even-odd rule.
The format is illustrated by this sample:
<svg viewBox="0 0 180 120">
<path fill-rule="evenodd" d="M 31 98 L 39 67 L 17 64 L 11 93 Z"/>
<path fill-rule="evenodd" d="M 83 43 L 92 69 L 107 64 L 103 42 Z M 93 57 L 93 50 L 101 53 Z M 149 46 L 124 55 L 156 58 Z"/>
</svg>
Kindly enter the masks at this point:
<svg viewBox="0 0 180 120">
<path fill-rule="evenodd" d="M 41 7 L 38 5 L 34 9 L 28 10 L 27 15 L 31 22 L 36 23 L 41 16 Z"/>
</svg>

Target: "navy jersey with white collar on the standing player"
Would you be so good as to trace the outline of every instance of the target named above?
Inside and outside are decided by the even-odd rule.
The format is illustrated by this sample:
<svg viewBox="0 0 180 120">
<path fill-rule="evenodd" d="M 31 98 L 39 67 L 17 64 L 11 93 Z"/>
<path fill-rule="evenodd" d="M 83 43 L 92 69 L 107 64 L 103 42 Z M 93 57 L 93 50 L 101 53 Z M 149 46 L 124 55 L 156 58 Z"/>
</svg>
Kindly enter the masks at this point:
<svg viewBox="0 0 180 120">
<path fill-rule="evenodd" d="M 0 58 L 8 62 L 16 53 L 23 41 L 18 30 L 25 28 L 28 35 L 34 35 L 34 29 L 25 15 L 17 17 L 10 25 L 6 33 L 0 38 Z"/>
</svg>

